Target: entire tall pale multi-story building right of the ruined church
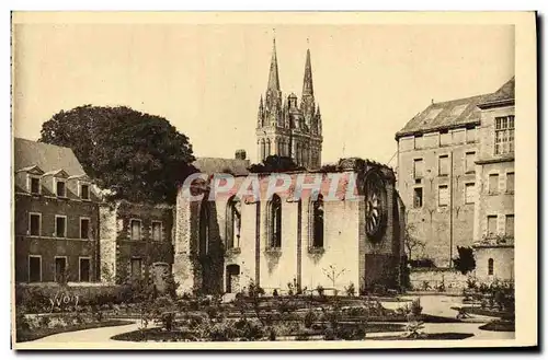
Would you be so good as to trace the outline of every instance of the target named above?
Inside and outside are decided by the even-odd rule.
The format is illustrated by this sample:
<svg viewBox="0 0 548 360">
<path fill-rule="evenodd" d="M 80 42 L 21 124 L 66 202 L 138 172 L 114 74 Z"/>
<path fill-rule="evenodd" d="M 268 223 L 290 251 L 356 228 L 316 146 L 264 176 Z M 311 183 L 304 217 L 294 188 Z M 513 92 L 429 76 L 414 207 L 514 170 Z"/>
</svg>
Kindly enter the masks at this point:
<svg viewBox="0 0 548 360">
<path fill-rule="evenodd" d="M 473 246 L 477 276 L 513 278 L 514 78 L 491 94 L 433 103 L 396 133 L 413 258 L 447 267 Z"/>
</svg>

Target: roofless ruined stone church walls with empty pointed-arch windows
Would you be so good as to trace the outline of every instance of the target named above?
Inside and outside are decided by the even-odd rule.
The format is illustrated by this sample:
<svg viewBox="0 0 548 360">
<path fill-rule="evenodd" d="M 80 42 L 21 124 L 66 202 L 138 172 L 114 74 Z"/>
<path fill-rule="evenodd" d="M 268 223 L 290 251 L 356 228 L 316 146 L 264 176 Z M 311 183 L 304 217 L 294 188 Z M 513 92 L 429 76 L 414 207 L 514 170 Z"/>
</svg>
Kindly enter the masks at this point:
<svg viewBox="0 0 548 360">
<path fill-rule="evenodd" d="M 398 201 L 393 173 L 361 160 L 343 161 L 339 169 L 343 178 L 350 174 L 358 178 L 356 197 L 347 198 L 349 188 L 351 191 L 354 188 L 341 181 L 338 199 L 323 202 L 321 246 L 311 239 L 319 235 L 313 235 L 312 225 L 318 227 L 318 222 L 311 218 L 310 194 L 304 193 L 299 201 L 292 190 L 276 193 L 281 200 L 281 230 L 276 228 L 281 239 L 279 243 L 272 243 L 274 200 L 266 200 L 264 196 L 270 174 L 250 175 L 258 178 L 261 198 L 238 199 L 241 204 L 238 237 L 233 235 L 230 214 L 235 193 L 219 194 L 213 201 L 191 201 L 181 190 L 174 240 L 174 276 L 182 284 L 179 291 L 238 292 L 251 282 L 267 293 L 288 291 L 288 283 L 300 289 L 322 286 L 340 291 L 350 283 L 356 289 L 374 284 L 398 288 L 402 255 L 400 211 L 403 208 Z M 288 173 L 293 184 L 301 174 L 313 176 L 315 173 Z M 383 228 L 375 239 L 365 231 L 368 195 L 365 184 L 369 182 L 368 176 L 374 176 L 372 174 L 378 176 L 380 191 L 386 195 Z M 331 175 L 321 174 L 320 194 L 324 197 Z M 237 177 L 235 188 L 248 178 Z M 207 185 L 203 191 L 208 194 Z"/>
</svg>

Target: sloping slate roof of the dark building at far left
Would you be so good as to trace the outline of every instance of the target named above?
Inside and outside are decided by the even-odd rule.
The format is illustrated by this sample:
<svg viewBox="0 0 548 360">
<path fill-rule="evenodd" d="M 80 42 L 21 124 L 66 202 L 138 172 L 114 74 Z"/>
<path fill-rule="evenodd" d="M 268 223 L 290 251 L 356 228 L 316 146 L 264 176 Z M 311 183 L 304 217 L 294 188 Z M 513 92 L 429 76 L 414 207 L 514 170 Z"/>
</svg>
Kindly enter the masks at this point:
<svg viewBox="0 0 548 360">
<path fill-rule="evenodd" d="M 72 149 L 21 138 L 13 139 L 13 171 L 38 166 L 45 173 L 64 170 L 69 175 L 85 174 Z"/>
</svg>

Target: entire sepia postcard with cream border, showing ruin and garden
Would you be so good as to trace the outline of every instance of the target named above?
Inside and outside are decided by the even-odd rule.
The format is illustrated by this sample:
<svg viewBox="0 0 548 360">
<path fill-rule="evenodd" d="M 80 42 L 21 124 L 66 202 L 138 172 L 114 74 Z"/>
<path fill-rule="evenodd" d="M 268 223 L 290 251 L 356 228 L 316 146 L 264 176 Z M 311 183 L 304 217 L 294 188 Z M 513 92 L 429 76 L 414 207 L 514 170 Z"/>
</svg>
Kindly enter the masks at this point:
<svg viewBox="0 0 548 360">
<path fill-rule="evenodd" d="M 14 349 L 538 345 L 535 12 L 11 28 Z"/>
</svg>

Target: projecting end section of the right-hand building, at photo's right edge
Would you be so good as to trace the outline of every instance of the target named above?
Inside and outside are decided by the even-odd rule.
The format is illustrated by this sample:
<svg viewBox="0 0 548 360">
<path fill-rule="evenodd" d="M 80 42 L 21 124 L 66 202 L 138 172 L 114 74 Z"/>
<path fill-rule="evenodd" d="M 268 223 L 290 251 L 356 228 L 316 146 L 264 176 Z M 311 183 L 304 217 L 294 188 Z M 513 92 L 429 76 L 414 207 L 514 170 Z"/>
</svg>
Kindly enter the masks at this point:
<svg viewBox="0 0 548 360">
<path fill-rule="evenodd" d="M 473 247 L 476 276 L 487 281 L 514 278 L 514 86 L 512 78 L 478 105 Z"/>
</svg>

